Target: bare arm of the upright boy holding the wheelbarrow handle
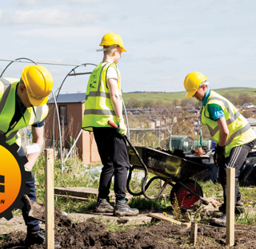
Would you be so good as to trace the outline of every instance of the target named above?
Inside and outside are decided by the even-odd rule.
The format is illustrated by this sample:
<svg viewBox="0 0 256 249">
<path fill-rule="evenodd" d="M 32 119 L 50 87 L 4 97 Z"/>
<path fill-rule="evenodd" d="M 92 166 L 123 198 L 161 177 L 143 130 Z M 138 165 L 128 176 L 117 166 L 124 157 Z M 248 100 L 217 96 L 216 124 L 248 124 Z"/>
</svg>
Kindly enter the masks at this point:
<svg viewBox="0 0 256 249">
<path fill-rule="evenodd" d="M 118 81 L 111 78 L 108 80 L 108 85 L 114 112 L 118 118 L 122 118 L 122 101 L 118 94 Z"/>
</svg>

